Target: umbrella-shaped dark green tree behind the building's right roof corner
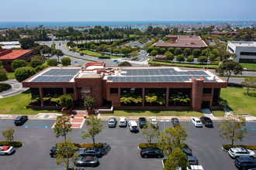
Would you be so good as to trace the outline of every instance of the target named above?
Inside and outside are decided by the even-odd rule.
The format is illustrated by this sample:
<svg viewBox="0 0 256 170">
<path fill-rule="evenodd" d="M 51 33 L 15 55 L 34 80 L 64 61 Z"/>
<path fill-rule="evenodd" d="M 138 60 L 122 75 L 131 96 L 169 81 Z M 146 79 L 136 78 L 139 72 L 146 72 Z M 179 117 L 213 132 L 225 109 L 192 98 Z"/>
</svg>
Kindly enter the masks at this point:
<svg viewBox="0 0 256 170">
<path fill-rule="evenodd" d="M 216 68 L 216 73 L 219 73 L 220 75 L 227 74 L 227 83 L 228 80 L 230 80 L 231 73 L 234 73 L 234 75 L 240 74 L 242 75 L 244 68 L 240 65 L 238 62 L 234 61 L 227 61 L 223 62 L 218 68 Z"/>
</svg>

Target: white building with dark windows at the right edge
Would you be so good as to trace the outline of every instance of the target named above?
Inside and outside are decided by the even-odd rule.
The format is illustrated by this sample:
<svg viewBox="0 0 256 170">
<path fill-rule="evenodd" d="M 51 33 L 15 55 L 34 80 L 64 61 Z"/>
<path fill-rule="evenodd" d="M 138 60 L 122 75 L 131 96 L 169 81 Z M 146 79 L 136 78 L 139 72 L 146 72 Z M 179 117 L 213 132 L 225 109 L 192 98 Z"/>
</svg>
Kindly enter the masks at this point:
<svg viewBox="0 0 256 170">
<path fill-rule="evenodd" d="M 235 62 L 256 63 L 256 42 L 229 41 L 227 52 L 237 54 Z"/>
</svg>

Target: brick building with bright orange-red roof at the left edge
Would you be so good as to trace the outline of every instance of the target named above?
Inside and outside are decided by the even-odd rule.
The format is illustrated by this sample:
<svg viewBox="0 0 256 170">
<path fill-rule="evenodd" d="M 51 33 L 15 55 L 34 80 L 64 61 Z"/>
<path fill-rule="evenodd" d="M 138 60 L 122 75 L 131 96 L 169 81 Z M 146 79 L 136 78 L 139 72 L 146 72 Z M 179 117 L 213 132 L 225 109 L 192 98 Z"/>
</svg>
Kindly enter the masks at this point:
<svg viewBox="0 0 256 170">
<path fill-rule="evenodd" d="M 23 59 L 26 62 L 29 62 L 33 56 L 33 49 L 0 49 L 0 61 L 2 61 L 5 70 L 8 72 L 12 72 L 12 61 Z"/>
</svg>

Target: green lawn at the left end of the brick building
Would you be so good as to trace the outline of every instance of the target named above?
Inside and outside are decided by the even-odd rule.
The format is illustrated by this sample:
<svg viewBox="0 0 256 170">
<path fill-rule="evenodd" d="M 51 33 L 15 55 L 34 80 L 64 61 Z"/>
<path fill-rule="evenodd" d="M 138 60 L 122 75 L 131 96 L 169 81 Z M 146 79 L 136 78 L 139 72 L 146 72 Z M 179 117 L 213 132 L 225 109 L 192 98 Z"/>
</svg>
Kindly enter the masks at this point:
<svg viewBox="0 0 256 170">
<path fill-rule="evenodd" d="M 61 113 L 61 110 L 27 109 L 31 93 L 26 90 L 12 97 L 0 99 L 0 114 L 39 114 L 39 113 Z M 22 100 L 21 100 L 22 99 Z"/>
</svg>

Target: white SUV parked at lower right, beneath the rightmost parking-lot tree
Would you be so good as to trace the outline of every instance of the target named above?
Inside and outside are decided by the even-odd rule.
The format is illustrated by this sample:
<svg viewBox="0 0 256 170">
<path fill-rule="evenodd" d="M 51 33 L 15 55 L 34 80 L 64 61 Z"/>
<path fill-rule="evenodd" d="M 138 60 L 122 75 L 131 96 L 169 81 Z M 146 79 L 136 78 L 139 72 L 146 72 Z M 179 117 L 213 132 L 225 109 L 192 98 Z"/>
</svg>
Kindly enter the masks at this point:
<svg viewBox="0 0 256 170">
<path fill-rule="evenodd" d="M 244 148 L 230 148 L 228 151 L 230 157 L 232 158 L 240 158 L 240 157 L 251 157 L 255 158 L 254 151 L 251 151 L 250 149 L 244 149 Z"/>
</svg>

